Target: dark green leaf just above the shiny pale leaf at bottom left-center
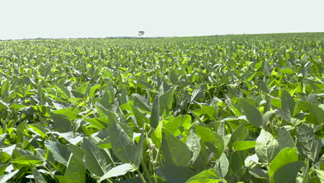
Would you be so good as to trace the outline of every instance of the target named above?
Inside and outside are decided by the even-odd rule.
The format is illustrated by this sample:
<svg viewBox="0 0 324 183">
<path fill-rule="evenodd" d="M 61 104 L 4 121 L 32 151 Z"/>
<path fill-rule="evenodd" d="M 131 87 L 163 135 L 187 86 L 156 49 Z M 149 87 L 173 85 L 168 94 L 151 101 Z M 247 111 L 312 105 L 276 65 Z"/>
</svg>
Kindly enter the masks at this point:
<svg viewBox="0 0 324 183">
<path fill-rule="evenodd" d="M 106 151 L 93 145 L 87 138 L 83 138 L 81 148 L 84 150 L 84 159 L 90 173 L 102 176 L 111 168 L 111 160 Z"/>
</svg>

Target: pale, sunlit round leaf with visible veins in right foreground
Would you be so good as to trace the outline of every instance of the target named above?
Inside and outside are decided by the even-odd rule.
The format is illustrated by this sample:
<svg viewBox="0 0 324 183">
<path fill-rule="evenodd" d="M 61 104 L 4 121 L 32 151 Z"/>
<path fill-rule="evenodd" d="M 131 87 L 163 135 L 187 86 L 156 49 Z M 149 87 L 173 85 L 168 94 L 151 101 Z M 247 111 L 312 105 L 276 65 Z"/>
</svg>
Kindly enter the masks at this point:
<svg viewBox="0 0 324 183">
<path fill-rule="evenodd" d="M 272 134 L 261 130 L 259 137 L 255 142 L 255 153 L 265 163 L 269 164 L 279 153 L 278 141 Z"/>
</svg>

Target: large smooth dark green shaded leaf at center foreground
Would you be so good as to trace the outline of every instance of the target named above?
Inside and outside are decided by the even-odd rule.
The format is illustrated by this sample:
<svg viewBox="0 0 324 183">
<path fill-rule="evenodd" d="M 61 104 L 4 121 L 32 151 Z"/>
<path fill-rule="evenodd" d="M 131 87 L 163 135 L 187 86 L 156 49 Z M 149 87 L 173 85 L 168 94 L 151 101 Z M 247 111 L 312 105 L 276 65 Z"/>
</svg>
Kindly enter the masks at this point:
<svg viewBox="0 0 324 183">
<path fill-rule="evenodd" d="M 191 160 L 191 152 L 183 141 L 163 129 L 161 149 L 165 159 L 165 166 L 188 166 Z"/>
</svg>

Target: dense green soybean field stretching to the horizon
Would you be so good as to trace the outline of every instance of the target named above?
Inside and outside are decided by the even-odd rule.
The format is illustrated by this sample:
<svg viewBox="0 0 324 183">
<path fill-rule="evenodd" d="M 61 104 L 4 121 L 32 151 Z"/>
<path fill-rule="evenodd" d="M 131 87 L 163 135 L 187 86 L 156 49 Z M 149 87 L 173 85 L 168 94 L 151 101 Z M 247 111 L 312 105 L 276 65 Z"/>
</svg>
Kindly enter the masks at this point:
<svg viewBox="0 0 324 183">
<path fill-rule="evenodd" d="M 324 182 L 324 33 L 0 42 L 0 182 Z"/>
</svg>

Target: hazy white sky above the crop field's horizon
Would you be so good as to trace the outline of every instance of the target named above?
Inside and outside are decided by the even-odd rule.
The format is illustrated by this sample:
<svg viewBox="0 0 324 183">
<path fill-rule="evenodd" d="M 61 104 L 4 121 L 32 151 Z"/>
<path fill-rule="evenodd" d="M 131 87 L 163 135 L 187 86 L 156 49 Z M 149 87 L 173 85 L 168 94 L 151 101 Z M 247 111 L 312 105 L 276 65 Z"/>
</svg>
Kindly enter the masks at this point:
<svg viewBox="0 0 324 183">
<path fill-rule="evenodd" d="M 0 39 L 324 32 L 324 0 L 0 0 Z"/>
</svg>

